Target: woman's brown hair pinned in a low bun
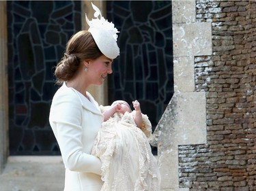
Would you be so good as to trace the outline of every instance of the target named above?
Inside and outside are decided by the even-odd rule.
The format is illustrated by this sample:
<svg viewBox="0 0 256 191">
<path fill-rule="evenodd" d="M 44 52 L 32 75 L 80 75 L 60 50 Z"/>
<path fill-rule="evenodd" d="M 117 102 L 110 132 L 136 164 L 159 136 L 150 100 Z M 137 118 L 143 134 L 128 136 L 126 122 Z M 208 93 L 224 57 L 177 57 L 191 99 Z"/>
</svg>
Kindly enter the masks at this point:
<svg viewBox="0 0 256 191">
<path fill-rule="evenodd" d="M 74 34 L 66 46 L 66 52 L 55 68 L 57 84 L 62 84 L 74 77 L 83 60 L 95 60 L 102 56 L 94 38 L 88 31 Z"/>
</svg>

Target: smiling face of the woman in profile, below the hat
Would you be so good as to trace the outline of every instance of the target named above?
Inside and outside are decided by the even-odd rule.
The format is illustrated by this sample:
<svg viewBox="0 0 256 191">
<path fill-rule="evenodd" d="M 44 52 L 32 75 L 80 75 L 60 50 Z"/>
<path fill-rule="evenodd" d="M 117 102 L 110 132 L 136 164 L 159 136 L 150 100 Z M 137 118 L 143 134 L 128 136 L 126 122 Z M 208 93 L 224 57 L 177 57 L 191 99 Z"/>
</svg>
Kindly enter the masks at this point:
<svg viewBox="0 0 256 191">
<path fill-rule="evenodd" d="M 102 55 L 96 60 L 89 61 L 87 80 L 89 84 L 101 85 L 109 73 L 112 71 L 113 60 Z"/>
</svg>

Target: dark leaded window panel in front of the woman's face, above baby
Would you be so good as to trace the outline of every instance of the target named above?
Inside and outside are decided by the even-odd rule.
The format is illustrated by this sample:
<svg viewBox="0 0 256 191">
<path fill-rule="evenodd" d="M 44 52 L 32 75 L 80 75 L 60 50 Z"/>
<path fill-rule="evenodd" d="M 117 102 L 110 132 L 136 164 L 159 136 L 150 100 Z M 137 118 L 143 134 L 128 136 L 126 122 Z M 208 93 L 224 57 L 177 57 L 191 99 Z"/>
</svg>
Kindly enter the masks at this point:
<svg viewBox="0 0 256 191">
<path fill-rule="evenodd" d="M 137 99 L 155 128 L 173 95 L 171 1 L 107 1 L 106 7 L 120 31 L 109 102 Z"/>
</svg>

